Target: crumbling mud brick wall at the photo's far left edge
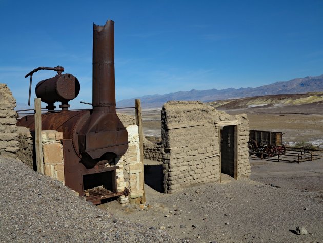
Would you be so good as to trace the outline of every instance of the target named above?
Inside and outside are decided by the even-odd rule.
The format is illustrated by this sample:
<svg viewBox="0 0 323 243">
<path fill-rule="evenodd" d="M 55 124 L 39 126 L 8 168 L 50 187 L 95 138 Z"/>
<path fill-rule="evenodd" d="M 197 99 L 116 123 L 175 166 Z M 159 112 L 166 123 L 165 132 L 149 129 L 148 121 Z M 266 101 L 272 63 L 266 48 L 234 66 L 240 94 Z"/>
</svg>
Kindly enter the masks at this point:
<svg viewBox="0 0 323 243">
<path fill-rule="evenodd" d="M 16 158 L 19 150 L 16 100 L 6 84 L 0 84 L 0 155 Z"/>
</svg>

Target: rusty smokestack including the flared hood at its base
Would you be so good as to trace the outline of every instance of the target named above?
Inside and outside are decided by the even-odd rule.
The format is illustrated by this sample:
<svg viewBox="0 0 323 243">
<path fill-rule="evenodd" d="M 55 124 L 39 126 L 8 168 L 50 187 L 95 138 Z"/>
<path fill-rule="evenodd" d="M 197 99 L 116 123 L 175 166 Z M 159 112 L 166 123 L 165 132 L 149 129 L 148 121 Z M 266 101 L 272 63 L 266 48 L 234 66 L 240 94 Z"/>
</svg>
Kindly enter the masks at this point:
<svg viewBox="0 0 323 243">
<path fill-rule="evenodd" d="M 78 134 L 82 163 L 89 169 L 128 149 L 128 132 L 115 111 L 114 22 L 93 25 L 93 110 Z"/>
</svg>

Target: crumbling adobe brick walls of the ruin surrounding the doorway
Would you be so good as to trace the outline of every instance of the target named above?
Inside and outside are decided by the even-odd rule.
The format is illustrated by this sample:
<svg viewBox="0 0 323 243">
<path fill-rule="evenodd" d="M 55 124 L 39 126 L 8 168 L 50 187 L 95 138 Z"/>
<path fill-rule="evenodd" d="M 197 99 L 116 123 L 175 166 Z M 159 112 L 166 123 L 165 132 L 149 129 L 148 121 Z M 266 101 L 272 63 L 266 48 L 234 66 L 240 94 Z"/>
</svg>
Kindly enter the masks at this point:
<svg viewBox="0 0 323 243">
<path fill-rule="evenodd" d="M 169 101 L 164 104 L 161 137 L 165 192 L 172 193 L 191 184 L 219 181 L 219 124 L 230 124 L 230 121 L 239 124 L 237 178 L 249 176 L 245 133 L 249 121 L 246 115 L 233 117 L 199 101 Z"/>
</svg>

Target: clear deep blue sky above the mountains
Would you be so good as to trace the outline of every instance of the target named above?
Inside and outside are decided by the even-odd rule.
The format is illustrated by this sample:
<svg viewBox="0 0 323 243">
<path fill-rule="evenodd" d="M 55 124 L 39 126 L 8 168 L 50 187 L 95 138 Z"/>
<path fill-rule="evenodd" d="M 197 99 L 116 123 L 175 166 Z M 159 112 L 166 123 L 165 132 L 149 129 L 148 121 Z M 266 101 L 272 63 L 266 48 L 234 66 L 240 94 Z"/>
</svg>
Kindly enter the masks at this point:
<svg viewBox="0 0 323 243">
<path fill-rule="evenodd" d="M 92 101 L 93 22 L 115 21 L 116 99 L 257 87 L 323 74 L 323 1 L 0 0 L 0 83 L 27 103 L 38 66 L 65 67 Z M 39 71 L 34 87 L 53 71 Z M 57 106 L 58 103 L 56 103 Z"/>
</svg>

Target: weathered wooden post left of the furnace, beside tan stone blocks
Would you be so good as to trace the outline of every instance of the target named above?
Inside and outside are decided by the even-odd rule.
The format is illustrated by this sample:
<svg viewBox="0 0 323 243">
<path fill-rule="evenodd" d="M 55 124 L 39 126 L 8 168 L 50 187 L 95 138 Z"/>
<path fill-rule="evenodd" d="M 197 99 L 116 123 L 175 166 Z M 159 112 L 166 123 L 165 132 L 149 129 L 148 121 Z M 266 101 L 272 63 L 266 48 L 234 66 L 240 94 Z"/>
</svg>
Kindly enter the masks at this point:
<svg viewBox="0 0 323 243">
<path fill-rule="evenodd" d="M 35 149 L 37 171 L 44 174 L 41 98 L 35 98 Z"/>
</svg>

